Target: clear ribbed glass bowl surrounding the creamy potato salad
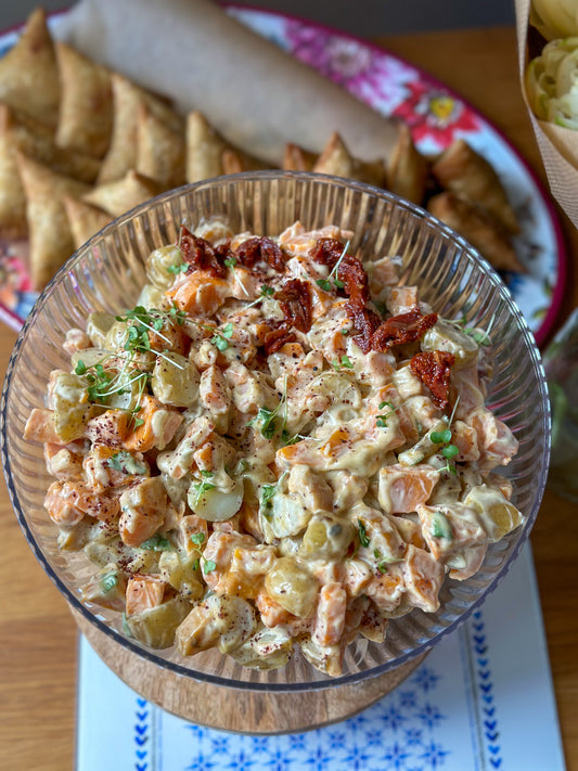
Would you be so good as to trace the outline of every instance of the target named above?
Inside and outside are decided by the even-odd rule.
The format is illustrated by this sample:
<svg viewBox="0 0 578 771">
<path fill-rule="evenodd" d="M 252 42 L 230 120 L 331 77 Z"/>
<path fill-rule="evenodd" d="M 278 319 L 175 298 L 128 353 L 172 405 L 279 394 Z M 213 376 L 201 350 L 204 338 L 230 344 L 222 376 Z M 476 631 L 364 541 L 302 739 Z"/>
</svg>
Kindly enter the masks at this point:
<svg viewBox="0 0 578 771">
<path fill-rule="evenodd" d="M 331 679 L 300 654 L 282 669 L 242 668 L 207 652 L 182 658 L 174 648 L 151 651 L 121 632 L 120 614 L 80 601 L 92 571 L 84 553 L 61 553 L 56 528 L 42 507 L 50 477 L 42 447 L 25 441 L 26 420 L 43 404 L 49 374 L 69 368 L 66 331 L 82 327 L 94 310 L 119 313 L 134 306 L 145 281 L 144 258 L 175 243 L 181 223 L 223 218 L 235 232 L 278 234 L 295 220 L 307 229 L 335 223 L 351 230 L 351 249 L 400 255 L 401 282 L 447 318 L 491 329 L 493 377 L 488 406 L 514 432 L 519 452 L 505 472 L 523 527 L 493 544 L 481 570 L 466 581 L 446 580 L 435 614 L 415 609 L 389 624 L 383 644 L 360 639 L 347 650 L 344 674 Z M 10 360 L 1 400 L 1 451 L 8 489 L 20 524 L 42 567 L 68 603 L 118 646 L 184 677 L 255 691 L 335 688 L 393 669 L 454 630 L 493 590 L 534 525 L 548 472 L 550 411 L 540 356 L 521 311 L 499 275 L 463 239 L 422 209 L 369 185 L 320 175 L 252 172 L 181 188 L 130 211 L 91 239 L 57 273 L 35 305 Z M 506 621 L 505 621 L 506 622 Z"/>
</svg>

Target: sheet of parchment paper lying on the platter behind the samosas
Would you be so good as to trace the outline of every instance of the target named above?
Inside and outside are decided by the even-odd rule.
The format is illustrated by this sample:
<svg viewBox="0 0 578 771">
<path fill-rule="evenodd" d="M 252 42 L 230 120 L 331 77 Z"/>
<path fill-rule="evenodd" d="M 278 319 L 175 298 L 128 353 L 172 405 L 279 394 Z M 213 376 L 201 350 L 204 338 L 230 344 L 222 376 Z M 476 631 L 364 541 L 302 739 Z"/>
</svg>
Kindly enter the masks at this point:
<svg viewBox="0 0 578 771">
<path fill-rule="evenodd" d="M 320 152 L 334 130 L 365 160 L 397 140 L 393 120 L 209 0 L 80 0 L 57 37 L 278 165 L 285 143 Z"/>
</svg>

